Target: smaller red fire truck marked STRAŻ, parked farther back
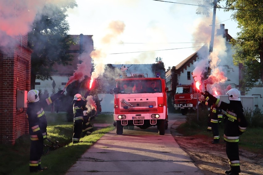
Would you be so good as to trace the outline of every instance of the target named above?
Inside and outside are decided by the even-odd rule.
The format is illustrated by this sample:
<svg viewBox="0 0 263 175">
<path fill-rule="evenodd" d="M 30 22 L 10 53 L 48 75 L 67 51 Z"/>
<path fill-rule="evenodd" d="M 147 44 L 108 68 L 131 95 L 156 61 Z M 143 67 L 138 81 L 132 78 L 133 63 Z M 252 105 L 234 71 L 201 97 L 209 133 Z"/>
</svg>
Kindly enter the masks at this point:
<svg viewBox="0 0 263 175">
<path fill-rule="evenodd" d="M 195 110 L 198 104 L 200 108 L 203 108 L 198 102 L 200 97 L 198 92 L 194 85 L 178 85 L 174 94 L 174 108 L 181 109 L 182 115 L 186 115 L 189 110 Z"/>
</svg>

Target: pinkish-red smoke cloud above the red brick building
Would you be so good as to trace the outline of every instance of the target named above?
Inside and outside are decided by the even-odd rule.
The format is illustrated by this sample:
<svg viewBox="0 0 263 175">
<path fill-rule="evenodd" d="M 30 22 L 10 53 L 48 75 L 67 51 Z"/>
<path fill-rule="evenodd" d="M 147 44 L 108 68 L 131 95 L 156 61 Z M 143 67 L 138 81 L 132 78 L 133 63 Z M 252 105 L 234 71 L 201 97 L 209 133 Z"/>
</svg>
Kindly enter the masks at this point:
<svg viewBox="0 0 263 175">
<path fill-rule="evenodd" d="M 27 35 L 35 19 L 52 11 L 44 11 L 45 5 L 65 3 L 64 0 L 0 0 L 0 47 L 13 48 L 16 37 Z"/>
</svg>

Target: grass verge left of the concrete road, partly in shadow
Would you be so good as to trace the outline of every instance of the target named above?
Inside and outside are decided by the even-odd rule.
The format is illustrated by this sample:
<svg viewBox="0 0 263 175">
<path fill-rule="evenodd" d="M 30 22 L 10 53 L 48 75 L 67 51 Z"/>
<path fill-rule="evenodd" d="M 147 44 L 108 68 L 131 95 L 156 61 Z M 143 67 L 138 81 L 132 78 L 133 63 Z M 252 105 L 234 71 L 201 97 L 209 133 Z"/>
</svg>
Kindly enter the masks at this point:
<svg viewBox="0 0 263 175">
<path fill-rule="evenodd" d="M 44 172 L 30 173 L 41 175 L 63 175 L 105 133 L 115 129 L 112 126 L 98 129 L 89 136 L 81 138 L 83 142 L 72 144 L 73 122 L 66 121 L 66 113 L 46 112 L 48 120 L 48 138 L 57 140 L 62 148 L 56 149 L 41 157 L 42 166 L 47 166 Z M 113 124 L 112 115 L 98 115 L 91 123 Z M 45 144 L 49 144 L 45 140 Z M 20 136 L 14 146 L 0 145 L 0 174 L 2 175 L 26 175 L 29 174 L 29 154 L 30 137 L 29 135 Z"/>
</svg>

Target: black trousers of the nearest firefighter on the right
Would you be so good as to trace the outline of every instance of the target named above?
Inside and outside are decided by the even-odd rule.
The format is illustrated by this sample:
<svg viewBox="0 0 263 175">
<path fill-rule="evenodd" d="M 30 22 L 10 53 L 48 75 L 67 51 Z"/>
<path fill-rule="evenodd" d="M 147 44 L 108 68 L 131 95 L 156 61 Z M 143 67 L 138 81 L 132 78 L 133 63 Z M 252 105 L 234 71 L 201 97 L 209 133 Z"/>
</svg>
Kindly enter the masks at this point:
<svg viewBox="0 0 263 175">
<path fill-rule="evenodd" d="M 226 152 L 231 172 L 240 173 L 238 142 L 226 142 Z"/>
</svg>

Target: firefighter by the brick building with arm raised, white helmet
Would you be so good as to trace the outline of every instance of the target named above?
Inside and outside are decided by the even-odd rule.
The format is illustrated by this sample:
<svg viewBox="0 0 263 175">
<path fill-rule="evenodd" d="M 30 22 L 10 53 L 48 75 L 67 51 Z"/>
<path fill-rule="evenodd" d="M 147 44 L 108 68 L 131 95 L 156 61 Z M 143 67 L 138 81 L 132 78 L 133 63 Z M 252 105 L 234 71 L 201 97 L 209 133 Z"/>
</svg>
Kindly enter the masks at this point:
<svg viewBox="0 0 263 175">
<path fill-rule="evenodd" d="M 43 171 L 47 167 L 41 167 L 41 156 L 44 149 L 44 140 L 47 138 L 47 119 L 43 108 L 52 104 L 54 100 L 63 96 L 64 91 L 61 90 L 51 97 L 45 100 L 39 99 L 39 91 L 30 90 L 27 93 L 27 119 L 29 124 L 29 134 L 30 134 L 30 161 L 29 161 L 29 171 L 37 172 Z"/>
</svg>

